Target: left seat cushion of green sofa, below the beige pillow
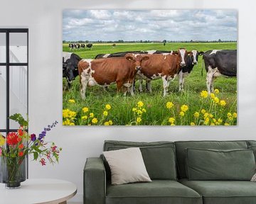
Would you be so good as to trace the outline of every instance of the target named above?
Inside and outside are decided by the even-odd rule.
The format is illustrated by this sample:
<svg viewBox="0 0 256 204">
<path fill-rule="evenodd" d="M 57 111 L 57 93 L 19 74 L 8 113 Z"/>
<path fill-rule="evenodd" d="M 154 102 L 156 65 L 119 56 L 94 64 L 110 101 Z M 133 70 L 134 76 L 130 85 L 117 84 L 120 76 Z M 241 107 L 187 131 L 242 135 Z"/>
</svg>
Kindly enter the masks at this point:
<svg viewBox="0 0 256 204">
<path fill-rule="evenodd" d="M 202 197 L 177 181 L 153 180 L 150 183 L 107 185 L 106 204 L 202 204 Z"/>
</svg>

